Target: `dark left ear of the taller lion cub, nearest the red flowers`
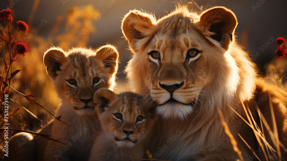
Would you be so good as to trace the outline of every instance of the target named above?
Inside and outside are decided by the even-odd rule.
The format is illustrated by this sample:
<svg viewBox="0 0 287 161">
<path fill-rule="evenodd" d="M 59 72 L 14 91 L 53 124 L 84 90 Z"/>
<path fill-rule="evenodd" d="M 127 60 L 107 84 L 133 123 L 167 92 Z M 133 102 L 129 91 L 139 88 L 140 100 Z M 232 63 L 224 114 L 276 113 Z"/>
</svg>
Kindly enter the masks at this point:
<svg viewBox="0 0 287 161">
<path fill-rule="evenodd" d="M 51 47 L 44 53 L 44 66 L 46 67 L 47 74 L 52 80 L 55 80 L 57 71 L 66 60 L 65 51 L 59 47 Z"/>
</svg>

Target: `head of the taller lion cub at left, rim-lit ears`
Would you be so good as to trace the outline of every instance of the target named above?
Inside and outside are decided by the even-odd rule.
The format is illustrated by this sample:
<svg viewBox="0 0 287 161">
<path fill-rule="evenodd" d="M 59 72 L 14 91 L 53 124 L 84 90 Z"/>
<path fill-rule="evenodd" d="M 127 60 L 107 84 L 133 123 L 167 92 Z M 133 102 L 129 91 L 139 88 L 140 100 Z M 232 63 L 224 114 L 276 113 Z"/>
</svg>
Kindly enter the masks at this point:
<svg viewBox="0 0 287 161">
<path fill-rule="evenodd" d="M 94 113 L 94 92 L 113 87 L 117 60 L 117 50 L 110 45 L 97 51 L 51 48 L 44 55 L 47 73 L 62 104 L 79 114 Z"/>
</svg>

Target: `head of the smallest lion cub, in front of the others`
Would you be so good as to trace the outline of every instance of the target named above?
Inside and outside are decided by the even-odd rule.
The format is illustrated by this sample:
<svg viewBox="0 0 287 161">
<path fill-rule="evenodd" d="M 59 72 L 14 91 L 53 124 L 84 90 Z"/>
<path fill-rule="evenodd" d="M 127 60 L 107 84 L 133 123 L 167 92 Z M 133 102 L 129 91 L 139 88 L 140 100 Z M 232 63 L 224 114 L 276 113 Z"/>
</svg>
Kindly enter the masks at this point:
<svg viewBox="0 0 287 161">
<path fill-rule="evenodd" d="M 94 102 L 104 131 L 115 143 L 132 147 L 142 141 L 153 126 L 152 104 L 132 92 L 116 95 L 108 89 L 94 94 Z"/>
</svg>

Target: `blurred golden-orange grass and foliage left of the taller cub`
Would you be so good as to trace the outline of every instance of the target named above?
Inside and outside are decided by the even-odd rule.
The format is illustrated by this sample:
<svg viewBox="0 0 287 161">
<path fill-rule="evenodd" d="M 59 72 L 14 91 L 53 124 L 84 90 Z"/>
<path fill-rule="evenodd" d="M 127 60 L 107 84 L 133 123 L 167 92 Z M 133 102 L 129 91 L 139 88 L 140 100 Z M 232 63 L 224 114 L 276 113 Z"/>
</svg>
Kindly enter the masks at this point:
<svg viewBox="0 0 287 161">
<path fill-rule="evenodd" d="M 35 0 L 28 18 L 30 28 L 32 28 L 34 13 L 37 7 L 38 0 Z M 59 99 L 57 99 L 57 95 L 53 89 L 52 81 L 46 75 L 46 69 L 43 65 L 44 51 L 51 47 L 51 44 L 62 47 L 64 50 L 71 49 L 72 47 L 87 47 L 90 34 L 96 32 L 93 23 L 99 18 L 98 10 L 94 9 L 92 5 L 75 6 L 68 9 L 66 15 L 58 16 L 57 22 L 47 37 L 34 34 L 31 30 L 27 34 L 19 32 L 17 37 L 24 38 L 27 41 L 30 46 L 30 52 L 25 57 L 18 57 L 18 60 L 13 62 L 13 70 L 19 69 L 21 71 L 11 81 L 11 87 L 25 95 L 36 95 L 37 97 L 33 98 L 34 101 L 52 114 L 55 114 Z M 0 24 L 0 27 L 7 29 L 7 24 L 3 25 L 1 26 Z M 14 28 L 12 34 L 15 35 L 17 26 L 13 26 L 12 24 L 11 28 Z M 65 28 L 64 32 L 59 33 L 60 28 Z M 77 36 L 79 32 L 84 34 Z M 28 38 L 29 36 L 32 38 Z M 0 57 L 9 57 L 7 54 L 6 44 L 0 41 Z M 2 69 L 3 64 L 1 65 L 1 71 L 3 71 Z M 36 105 L 31 105 L 26 98 L 13 90 L 9 92 L 9 103 L 9 112 L 20 108 L 18 112 L 9 117 L 9 128 L 11 129 L 37 131 L 42 125 L 53 118 L 51 114 Z M 9 132 L 10 135 L 15 133 Z M 0 133 L 0 149 L 3 148 L 3 141 L 3 133 Z M 2 154 L 3 152 L 1 152 L 1 157 L 3 156 Z M 0 159 L 4 159 L 1 157 Z"/>
</svg>

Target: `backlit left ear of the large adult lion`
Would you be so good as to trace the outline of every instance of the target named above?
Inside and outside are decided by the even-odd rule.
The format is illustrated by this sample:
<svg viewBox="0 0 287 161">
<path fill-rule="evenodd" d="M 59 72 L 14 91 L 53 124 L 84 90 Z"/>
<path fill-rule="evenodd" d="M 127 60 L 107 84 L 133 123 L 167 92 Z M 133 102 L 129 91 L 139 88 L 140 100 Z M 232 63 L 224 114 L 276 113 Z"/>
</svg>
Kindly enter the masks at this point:
<svg viewBox="0 0 287 161">
<path fill-rule="evenodd" d="M 136 43 L 139 39 L 154 35 L 155 23 L 156 20 L 153 16 L 138 10 L 129 11 L 125 15 L 122 21 L 122 31 L 133 51 L 138 51 L 139 47 Z"/>
</svg>

